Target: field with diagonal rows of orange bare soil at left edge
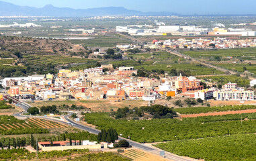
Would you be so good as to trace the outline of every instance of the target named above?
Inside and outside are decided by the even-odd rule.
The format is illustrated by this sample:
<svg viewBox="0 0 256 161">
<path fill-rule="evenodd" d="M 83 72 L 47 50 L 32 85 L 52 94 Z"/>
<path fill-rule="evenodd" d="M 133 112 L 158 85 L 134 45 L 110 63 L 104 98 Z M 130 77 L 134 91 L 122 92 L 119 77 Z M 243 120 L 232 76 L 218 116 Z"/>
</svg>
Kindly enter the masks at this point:
<svg viewBox="0 0 256 161">
<path fill-rule="evenodd" d="M 49 129 L 67 127 L 52 121 L 42 119 L 19 120 L 13 116 L 0 116 L 0 133 L 2 135 L 49 133 Z"/>
</svg>

